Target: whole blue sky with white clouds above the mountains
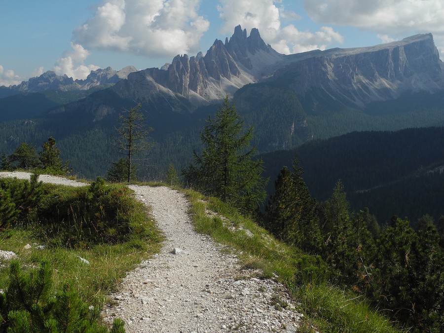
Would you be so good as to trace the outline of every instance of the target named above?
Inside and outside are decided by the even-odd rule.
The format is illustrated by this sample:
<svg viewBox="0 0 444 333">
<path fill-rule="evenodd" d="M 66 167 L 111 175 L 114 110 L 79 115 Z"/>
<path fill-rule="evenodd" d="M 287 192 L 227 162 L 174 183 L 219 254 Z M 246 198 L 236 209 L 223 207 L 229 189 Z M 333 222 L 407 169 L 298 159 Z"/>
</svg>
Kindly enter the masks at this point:
<svg viewBox="0 0 444 333">
<path fill-rule="evenodd" d="M 281 53 L 370 46 L 432 33 L 444 54 L 443 0 L 4 0 L 0 85 L 46 71 L 161 67 L 241 25 Z M 443 56 L 442 56 L 443 58 Z"/>
</svg>

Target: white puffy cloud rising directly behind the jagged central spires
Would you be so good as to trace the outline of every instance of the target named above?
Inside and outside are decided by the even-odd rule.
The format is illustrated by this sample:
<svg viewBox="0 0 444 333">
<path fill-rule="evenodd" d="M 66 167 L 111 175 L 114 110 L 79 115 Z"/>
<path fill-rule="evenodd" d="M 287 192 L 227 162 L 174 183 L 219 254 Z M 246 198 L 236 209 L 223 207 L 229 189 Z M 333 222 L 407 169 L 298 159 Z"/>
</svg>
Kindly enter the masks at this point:
<svg viewBox="0 0 444 333">
<path fill-rule="evenodd" d="M 320 31 L 310 32 L 299 31 L 293 24 L 283 26 L 281 19 L 300 18 L 295 12 L 286 11 L 283 1 L 221 0 L 220 2 L 218 10 L 223 20 L 223 33 L 232 32 L 238 24 L 247 31 L 258 28 L 264 41 L 280 53 L 324 50 L 332 42 L 343 42 L 343 37 L 331 27 L 322 27 Z"/>
</svg>

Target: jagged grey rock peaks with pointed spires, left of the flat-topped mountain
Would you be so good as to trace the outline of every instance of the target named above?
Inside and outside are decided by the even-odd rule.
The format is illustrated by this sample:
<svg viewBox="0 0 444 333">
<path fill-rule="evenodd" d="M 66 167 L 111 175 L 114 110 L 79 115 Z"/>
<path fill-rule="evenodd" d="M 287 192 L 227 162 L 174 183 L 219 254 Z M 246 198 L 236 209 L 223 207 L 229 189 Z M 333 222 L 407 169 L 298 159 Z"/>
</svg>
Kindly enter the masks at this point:
<svg viewBox="0 0 444 333">
<path fill-rule="evenodd" d="M 137 80 L 137 84 L 150 87 L 151 90 L 145 89 L 145 95 L 137 94 L 138 100 L 152 100 L 156 92 L 165 94 L 168 91 L 173 99 L 184 97 L 199 106 L 219 102 L 227 94 L 233 96 L 245 84 L 259 81 L 263 68 L 283 57 L 264 43 L 257 29 L 247 37 L 247 31 L 237 26 L 229 41 L 226 39 L 223 43 L 216 39 L 205 55 L 202 52 L 192 57 L 177 55 L 171 64 L 161 69 L 147 69 L 142 75 L 131 74 L 128 81 Z M 125 86 L 134 87 L 135 82 L 118 82 L 113 89 L 127 97 L 123 93 L 128 91 Z M 130 94 L 136 97 L 134 92 Z"/>
</svg>

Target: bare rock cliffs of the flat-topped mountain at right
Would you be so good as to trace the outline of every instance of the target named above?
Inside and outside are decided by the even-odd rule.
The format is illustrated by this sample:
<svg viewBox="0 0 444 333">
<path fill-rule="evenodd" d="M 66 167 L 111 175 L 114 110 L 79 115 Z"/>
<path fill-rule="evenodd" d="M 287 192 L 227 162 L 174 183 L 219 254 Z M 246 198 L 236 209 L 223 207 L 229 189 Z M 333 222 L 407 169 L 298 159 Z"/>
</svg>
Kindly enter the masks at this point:
<svg viewBox="0 0 444 333">
<path fill-rule="evenodd" d="M 299 96 L 324 91 L 358 107 L 399 97 L 406 91 L 444 89 L 444 74 L 431 34 L 353 49 L 288 56 L 271 80 L 291 81 Z"/>
</svg>

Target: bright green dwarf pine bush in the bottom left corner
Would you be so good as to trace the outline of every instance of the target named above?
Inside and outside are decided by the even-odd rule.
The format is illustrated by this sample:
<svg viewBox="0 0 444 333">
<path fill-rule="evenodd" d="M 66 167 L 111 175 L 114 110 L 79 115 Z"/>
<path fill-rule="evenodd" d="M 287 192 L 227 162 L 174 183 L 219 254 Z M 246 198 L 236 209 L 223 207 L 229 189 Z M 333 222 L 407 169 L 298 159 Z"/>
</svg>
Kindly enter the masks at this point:
<svg viewBox="0 0 444 333">
<path fill-rule="evenodd" d="M 51 295 L 52 282 L 47 262 L 23 273 L 18 262 L 12 261 L 9 285 L 0 294 L 0 332 L 109 332 L 98 323 L 99 312 L 89 309 L 68 284 Z M 111 332 L 125 332 L 123 322 L 115 321 Z"/>
</svg>

